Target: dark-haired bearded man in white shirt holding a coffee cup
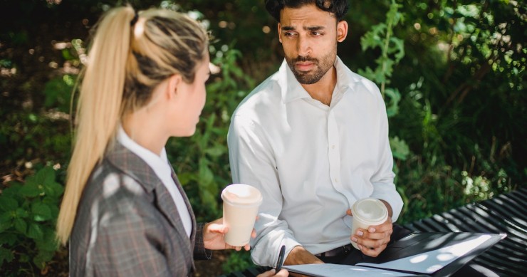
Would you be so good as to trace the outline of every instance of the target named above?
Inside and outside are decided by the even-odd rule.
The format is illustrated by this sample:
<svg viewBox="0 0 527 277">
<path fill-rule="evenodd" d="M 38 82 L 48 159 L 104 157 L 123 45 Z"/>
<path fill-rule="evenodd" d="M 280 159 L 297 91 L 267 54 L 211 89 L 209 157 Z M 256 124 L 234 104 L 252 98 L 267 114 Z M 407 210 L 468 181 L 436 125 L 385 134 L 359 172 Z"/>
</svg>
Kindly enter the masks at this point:
<svg viewBox="0 0 527 277">
<path fill-rule="evenodd" d="M 380 91 L 337 57 L 348 3 L 282 0 L 266 8 L 278 21 L 285 61 L 242 101 L 228 137 L 233 181 L 264 196 L 253 261 L 276 266 L 281 245 L 286 265 L 341 261 L 350 240 L 377 256 L 402 199 Z M 351 234 L 349 209 L 366 197 L 381 199 L 388 219 Z"/>
</svg>

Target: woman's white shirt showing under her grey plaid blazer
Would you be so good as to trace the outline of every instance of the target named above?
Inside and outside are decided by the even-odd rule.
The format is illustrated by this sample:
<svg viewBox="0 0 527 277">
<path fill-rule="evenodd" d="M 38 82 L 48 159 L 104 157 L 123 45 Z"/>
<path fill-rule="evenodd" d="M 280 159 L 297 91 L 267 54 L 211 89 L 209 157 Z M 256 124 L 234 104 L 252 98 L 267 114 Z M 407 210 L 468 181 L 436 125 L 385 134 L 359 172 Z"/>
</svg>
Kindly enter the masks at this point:
<svg viewBox="0 0 527 277">
<path fill-rule="evenodd" d="M 192 219 L 189 214 L 189 209 L 187 209 L 187 205 L 185 204 L 179 189 L 177 189 L 174 179 L 172 179 L 172 166 L 168 162 L 167 151 L 165 148 L 161 150 L 160 155 L 156 155 L 154 152 L 147 150 L 145 147 L 142 147 L 141 145 L 138 145 L 137 142 L 133 141 L 126 134 L 125 130 L 122 129 L 122 126 L 119 127 L 117 140 L 122 146 L 132 151 L 152 167 L 157 177 L 161 179 L 167 188 L 172 199 L 174 199 L 177 211 L 179 212 L 179 217 L 181 217 L 181 220 L 183 221 L 184 229 L 187 232 L 187 236 L 190 237 L 192 231 Z"/>
</svg>

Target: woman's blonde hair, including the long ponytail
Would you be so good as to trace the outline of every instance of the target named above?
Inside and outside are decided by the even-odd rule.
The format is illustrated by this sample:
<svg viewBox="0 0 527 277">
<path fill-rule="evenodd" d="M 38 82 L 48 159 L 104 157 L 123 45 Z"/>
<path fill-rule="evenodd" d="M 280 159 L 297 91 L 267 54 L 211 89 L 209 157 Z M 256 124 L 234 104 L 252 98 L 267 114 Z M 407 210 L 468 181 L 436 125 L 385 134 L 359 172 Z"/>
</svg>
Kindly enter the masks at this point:
<svg viewBox="0 0 527 277">
<path fill-rule="evenodd" d="M 120 119 L 149 103 L 154 88 L 174 74 L 192 83 L 208 55 L 199 23 L 175 11 L 131 6 L 110 9 L 95 26 L 88 63 L 80 74 L 73 154 L 57 222 L 66 244 L 90 173 L 113 143 Z"/>
</svg>

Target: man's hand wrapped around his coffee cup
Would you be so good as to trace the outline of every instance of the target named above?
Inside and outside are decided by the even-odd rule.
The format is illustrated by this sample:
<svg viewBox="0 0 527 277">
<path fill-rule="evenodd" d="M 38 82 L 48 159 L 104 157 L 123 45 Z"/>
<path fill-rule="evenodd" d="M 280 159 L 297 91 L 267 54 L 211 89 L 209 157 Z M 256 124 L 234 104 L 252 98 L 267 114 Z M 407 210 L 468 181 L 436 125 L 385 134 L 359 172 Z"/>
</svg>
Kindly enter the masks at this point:
<svg viewBox="0 0 527 277">
<path fill-rule="evenodd" d="M 371 257 L 379 256 L 379 254 L 386 249 L 388 242 L 390 242 L 390 236 L 393 232 L 392 224 L 392 207 L 388 202 L 381 200 L 388 209 L 388 218 L 380 225 L 369 226 L 367 230 L 358 228 L 355 234 L 352 234 L 350 239 L 355 241 L 360 251 Z M 348 209 L 346 213 L 350 216 L 351 210 Z"/>
</svg>

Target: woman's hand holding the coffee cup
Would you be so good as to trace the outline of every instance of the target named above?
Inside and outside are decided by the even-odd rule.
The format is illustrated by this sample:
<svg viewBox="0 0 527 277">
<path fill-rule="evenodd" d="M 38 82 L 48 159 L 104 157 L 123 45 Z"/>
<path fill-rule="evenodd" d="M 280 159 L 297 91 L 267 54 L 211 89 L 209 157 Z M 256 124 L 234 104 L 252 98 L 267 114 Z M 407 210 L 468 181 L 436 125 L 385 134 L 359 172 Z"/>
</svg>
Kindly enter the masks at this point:
<svg viewBox="0 0 527 277">
<path fill-rule="evenodd" d="M 205 224 L 204 230 L 203 230 L 203 242 L 205 244 L 206 249 L 211 250 L 221 250 L 221 249 L 236 249 L 236 251 L 239 251 L 242 249 L 242 246 L 231 246 L 229 244 L 226 244 L 224 240 L 224 234 L 229 231 L 229 228 L 223 224 L 223 218 L 216 219 L 212 222 L 209 222 Z M 251 237 L 256 237 L 256 231 L 254 231 L 251 234 Z M 246 251 L 249 251 L 251 249 L 251 246 L 249 244 L 246 244 L 243 246 L 243 248 Z"/>
</svg>

